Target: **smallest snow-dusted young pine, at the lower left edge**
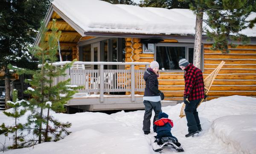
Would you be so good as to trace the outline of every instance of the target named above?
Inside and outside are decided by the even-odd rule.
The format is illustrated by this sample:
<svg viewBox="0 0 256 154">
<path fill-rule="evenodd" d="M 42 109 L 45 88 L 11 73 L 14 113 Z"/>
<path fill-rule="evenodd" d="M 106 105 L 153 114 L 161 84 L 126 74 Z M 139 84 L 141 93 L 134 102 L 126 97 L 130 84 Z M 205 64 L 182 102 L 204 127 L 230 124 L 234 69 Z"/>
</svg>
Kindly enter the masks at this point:
<svg viewBox="0 0 256 154">
<path fill-rule="evenodd" d="M 2 125 L 0 126 L 0 134 L 5 134 L 6 136 L 8 136 L 9 133 L 13 133 L 13 145 L 9 146 L 8 148 L 23 148 L 23 146 L 20 144 L 24 141 L 24 137 L 22 135 L 22 133 L 20 135 L 17 134 L 18 130 L 22 130 L 23 129 L 23 125 L 21 123 L 18 123 L 17 120 L 18 118 L 20 118 L 21 116 L 23 116 L 26 113 L 26 108 L 22 107 L 22 106 L 27 106 L 29 105 L 28 101 L 25 100 L 18 100 L 18 93 L 17 90 L 14 89 L 12 91 L 12 100 L 13 101 L 8 101 L 7 104 L 8 106 L 13 108 L 12 112 L 6 112 L 4 111 L 3 113 L 11 118 L 15 119 L 15 125 L 14 126 L 5 126 L 4 123 L 2 123 Z M 19 143 L 20 142 L 20 143 Z"/>
</svg>

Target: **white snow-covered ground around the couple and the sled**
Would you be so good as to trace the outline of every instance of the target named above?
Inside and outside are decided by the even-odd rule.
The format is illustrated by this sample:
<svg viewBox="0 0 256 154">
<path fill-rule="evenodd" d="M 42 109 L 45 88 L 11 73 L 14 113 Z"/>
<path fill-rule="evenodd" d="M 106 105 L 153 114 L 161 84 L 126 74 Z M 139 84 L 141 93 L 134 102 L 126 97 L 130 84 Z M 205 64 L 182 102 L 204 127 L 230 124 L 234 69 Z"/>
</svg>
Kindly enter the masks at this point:
<svg viewBox="0 0 256 154">
<path fill-rule="evenodd" d="M 185 137 L 186 118 L 178 117 L 180 108 L 181 104 L 167 106 L 163 112 L 174 121 L 172 134 L 184 148 L 183 154 L 256 154 L 256 98 L 234 95 L 204 102 L 198 108 L 203 132 L 190 138 Z M 58 142 L 42 143 L 34 149 L 9 150 L 6 154 L 157 154 L 148 135 L 143 134 L 143 115 L 144 111 L 111 115 L 53 113 L 55 118 L 72 123 L 70 135 Z M 0 122 L 12 121 L 0 112 Z M 150 135 L 154 135 L 152 129 Z M 1 136 L 0 142 L 3 139 Z M 11 143 L 8 141 L 7 145 Z M 163 153 L 177 152 L 168 148 Z"/>
</svg>

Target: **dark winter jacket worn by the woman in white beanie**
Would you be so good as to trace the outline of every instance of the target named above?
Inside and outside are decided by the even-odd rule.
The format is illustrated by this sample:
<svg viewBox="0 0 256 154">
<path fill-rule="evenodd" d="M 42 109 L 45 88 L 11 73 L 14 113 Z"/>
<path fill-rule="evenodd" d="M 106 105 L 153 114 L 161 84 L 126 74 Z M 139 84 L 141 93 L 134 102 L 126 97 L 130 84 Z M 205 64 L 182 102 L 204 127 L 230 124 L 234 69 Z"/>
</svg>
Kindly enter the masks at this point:
<svg viewBox="0 0 256 154">
<path fill-rule="evenodd" d="M 149 68 L 147 68 L 143 78 L 146 82 L 144 96 L 159 96 L 159 93 L 161 91 L 158 90 L 157 75 L 154 72 L 152 72 Z"/>
</svg>

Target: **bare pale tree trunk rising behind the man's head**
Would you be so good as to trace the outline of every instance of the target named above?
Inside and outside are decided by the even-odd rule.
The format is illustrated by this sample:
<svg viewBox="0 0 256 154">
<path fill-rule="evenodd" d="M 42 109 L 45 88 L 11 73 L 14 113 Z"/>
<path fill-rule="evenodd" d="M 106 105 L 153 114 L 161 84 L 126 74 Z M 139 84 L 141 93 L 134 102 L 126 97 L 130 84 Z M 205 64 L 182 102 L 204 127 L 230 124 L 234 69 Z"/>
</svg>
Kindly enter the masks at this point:
<svg viewBox="0 0 256 154">
<path fill-rule="evenodd" d="M 196 14 L 195 21 L 195 43 L 194 43 L 194 56 L 193 64 L 195 67 L 201 66 L 201 47 L 202 47 L 202 29 L 203 29 L 203 11 Z"/>
</svg>

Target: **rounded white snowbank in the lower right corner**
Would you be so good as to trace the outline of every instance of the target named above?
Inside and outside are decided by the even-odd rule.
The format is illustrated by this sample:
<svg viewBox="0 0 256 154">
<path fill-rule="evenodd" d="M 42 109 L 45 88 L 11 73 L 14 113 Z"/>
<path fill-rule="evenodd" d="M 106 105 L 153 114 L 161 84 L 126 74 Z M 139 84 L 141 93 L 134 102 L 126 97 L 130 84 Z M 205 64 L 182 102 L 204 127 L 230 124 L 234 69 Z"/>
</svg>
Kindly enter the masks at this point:
<svg viewBox="0 0 256 154">
<path fill-rule="evenodd" d="M 230 115 L 214 120 L 214 134 L 237 153 L 256 153 L 256 115 Z"/>
</svg>

